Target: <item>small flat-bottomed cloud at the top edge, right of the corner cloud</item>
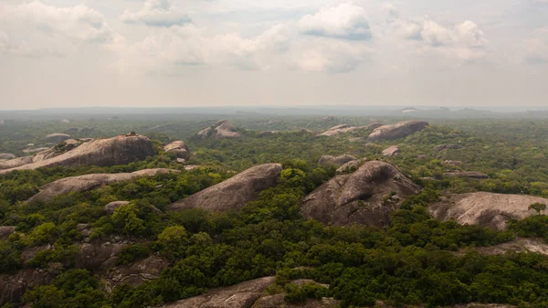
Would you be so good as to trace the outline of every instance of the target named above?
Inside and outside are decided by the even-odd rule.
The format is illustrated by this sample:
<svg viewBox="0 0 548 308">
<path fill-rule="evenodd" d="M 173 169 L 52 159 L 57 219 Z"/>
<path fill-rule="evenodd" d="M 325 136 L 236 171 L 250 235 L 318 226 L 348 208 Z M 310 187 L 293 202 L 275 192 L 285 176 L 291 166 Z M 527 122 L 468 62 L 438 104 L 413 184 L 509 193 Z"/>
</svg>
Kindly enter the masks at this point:
<svg viewBox="0 0 548 308">
<path fill-rule="evenodd" d="M 190 17 L 174 7 L 171 0 L 147 0 L 137 12 L 124 11 L 121 20 L 150 27 L 172 27 L 191 22 Z"/>
</svg>

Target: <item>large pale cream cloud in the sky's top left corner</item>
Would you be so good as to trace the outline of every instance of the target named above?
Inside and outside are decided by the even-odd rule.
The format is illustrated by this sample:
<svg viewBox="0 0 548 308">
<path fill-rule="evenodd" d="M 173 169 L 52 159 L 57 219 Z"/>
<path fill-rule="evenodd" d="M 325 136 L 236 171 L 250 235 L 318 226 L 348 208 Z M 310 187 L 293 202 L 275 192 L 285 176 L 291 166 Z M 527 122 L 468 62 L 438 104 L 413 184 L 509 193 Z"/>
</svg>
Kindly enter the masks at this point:
<svg viewBox="0 0 548 308">
<path fill-rule="evenodd" d="M 110 43 L 117 34 L 86 5 L 56 7 L 39 1 L 0 11 L 0 50 L 24 57 L 62 56 L 82 43 Z"/>
</svg>

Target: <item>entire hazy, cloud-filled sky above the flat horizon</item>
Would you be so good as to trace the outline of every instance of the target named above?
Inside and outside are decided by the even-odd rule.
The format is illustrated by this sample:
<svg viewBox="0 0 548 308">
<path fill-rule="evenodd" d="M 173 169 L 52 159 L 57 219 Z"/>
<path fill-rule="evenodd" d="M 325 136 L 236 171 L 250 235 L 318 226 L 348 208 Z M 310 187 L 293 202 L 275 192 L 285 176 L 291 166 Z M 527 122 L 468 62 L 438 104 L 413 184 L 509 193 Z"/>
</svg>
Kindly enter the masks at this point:
<svg viewBox="0 0 548 308">
<path fill-rule="evenodd" d="M 0 110 L 548 107 L 548 0 L 0 0 Z"/>
</svg>

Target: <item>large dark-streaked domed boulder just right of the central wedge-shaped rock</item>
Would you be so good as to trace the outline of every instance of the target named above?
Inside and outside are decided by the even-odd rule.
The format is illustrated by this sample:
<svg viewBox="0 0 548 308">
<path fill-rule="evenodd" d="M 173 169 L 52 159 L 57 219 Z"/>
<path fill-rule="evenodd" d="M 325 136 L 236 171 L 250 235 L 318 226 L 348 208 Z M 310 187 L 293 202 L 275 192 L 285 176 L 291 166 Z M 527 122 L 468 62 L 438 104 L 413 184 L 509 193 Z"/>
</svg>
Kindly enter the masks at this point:
<svg viewBox="0 0 548 308">
<path fill-rule="evenodd" d="M 394 165 L 371 161 L 352 175 L 337 175 L 318 187 L 304 198 L 300 211 L 327 225 L 384 226 L 401 200 L 419 190 Z"/>
</svg>

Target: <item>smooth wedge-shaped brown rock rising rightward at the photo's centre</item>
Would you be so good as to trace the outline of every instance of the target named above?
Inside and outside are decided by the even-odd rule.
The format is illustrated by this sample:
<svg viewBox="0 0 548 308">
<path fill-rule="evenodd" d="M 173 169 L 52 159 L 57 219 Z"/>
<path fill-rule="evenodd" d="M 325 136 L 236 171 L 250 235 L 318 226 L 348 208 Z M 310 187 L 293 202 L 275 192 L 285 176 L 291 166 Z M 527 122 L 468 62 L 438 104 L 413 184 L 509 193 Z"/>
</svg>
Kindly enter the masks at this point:
<svg viewBox="0 0 548 308">
<path fill-rule="evenodd" d="M 169 210 L 203 208 L 209 212 L 238 210 L 255 200 L 261 191 L 276 186 L 281 165 L 256 165 L 215 186 L 175 202 Z"/>
</svg>

